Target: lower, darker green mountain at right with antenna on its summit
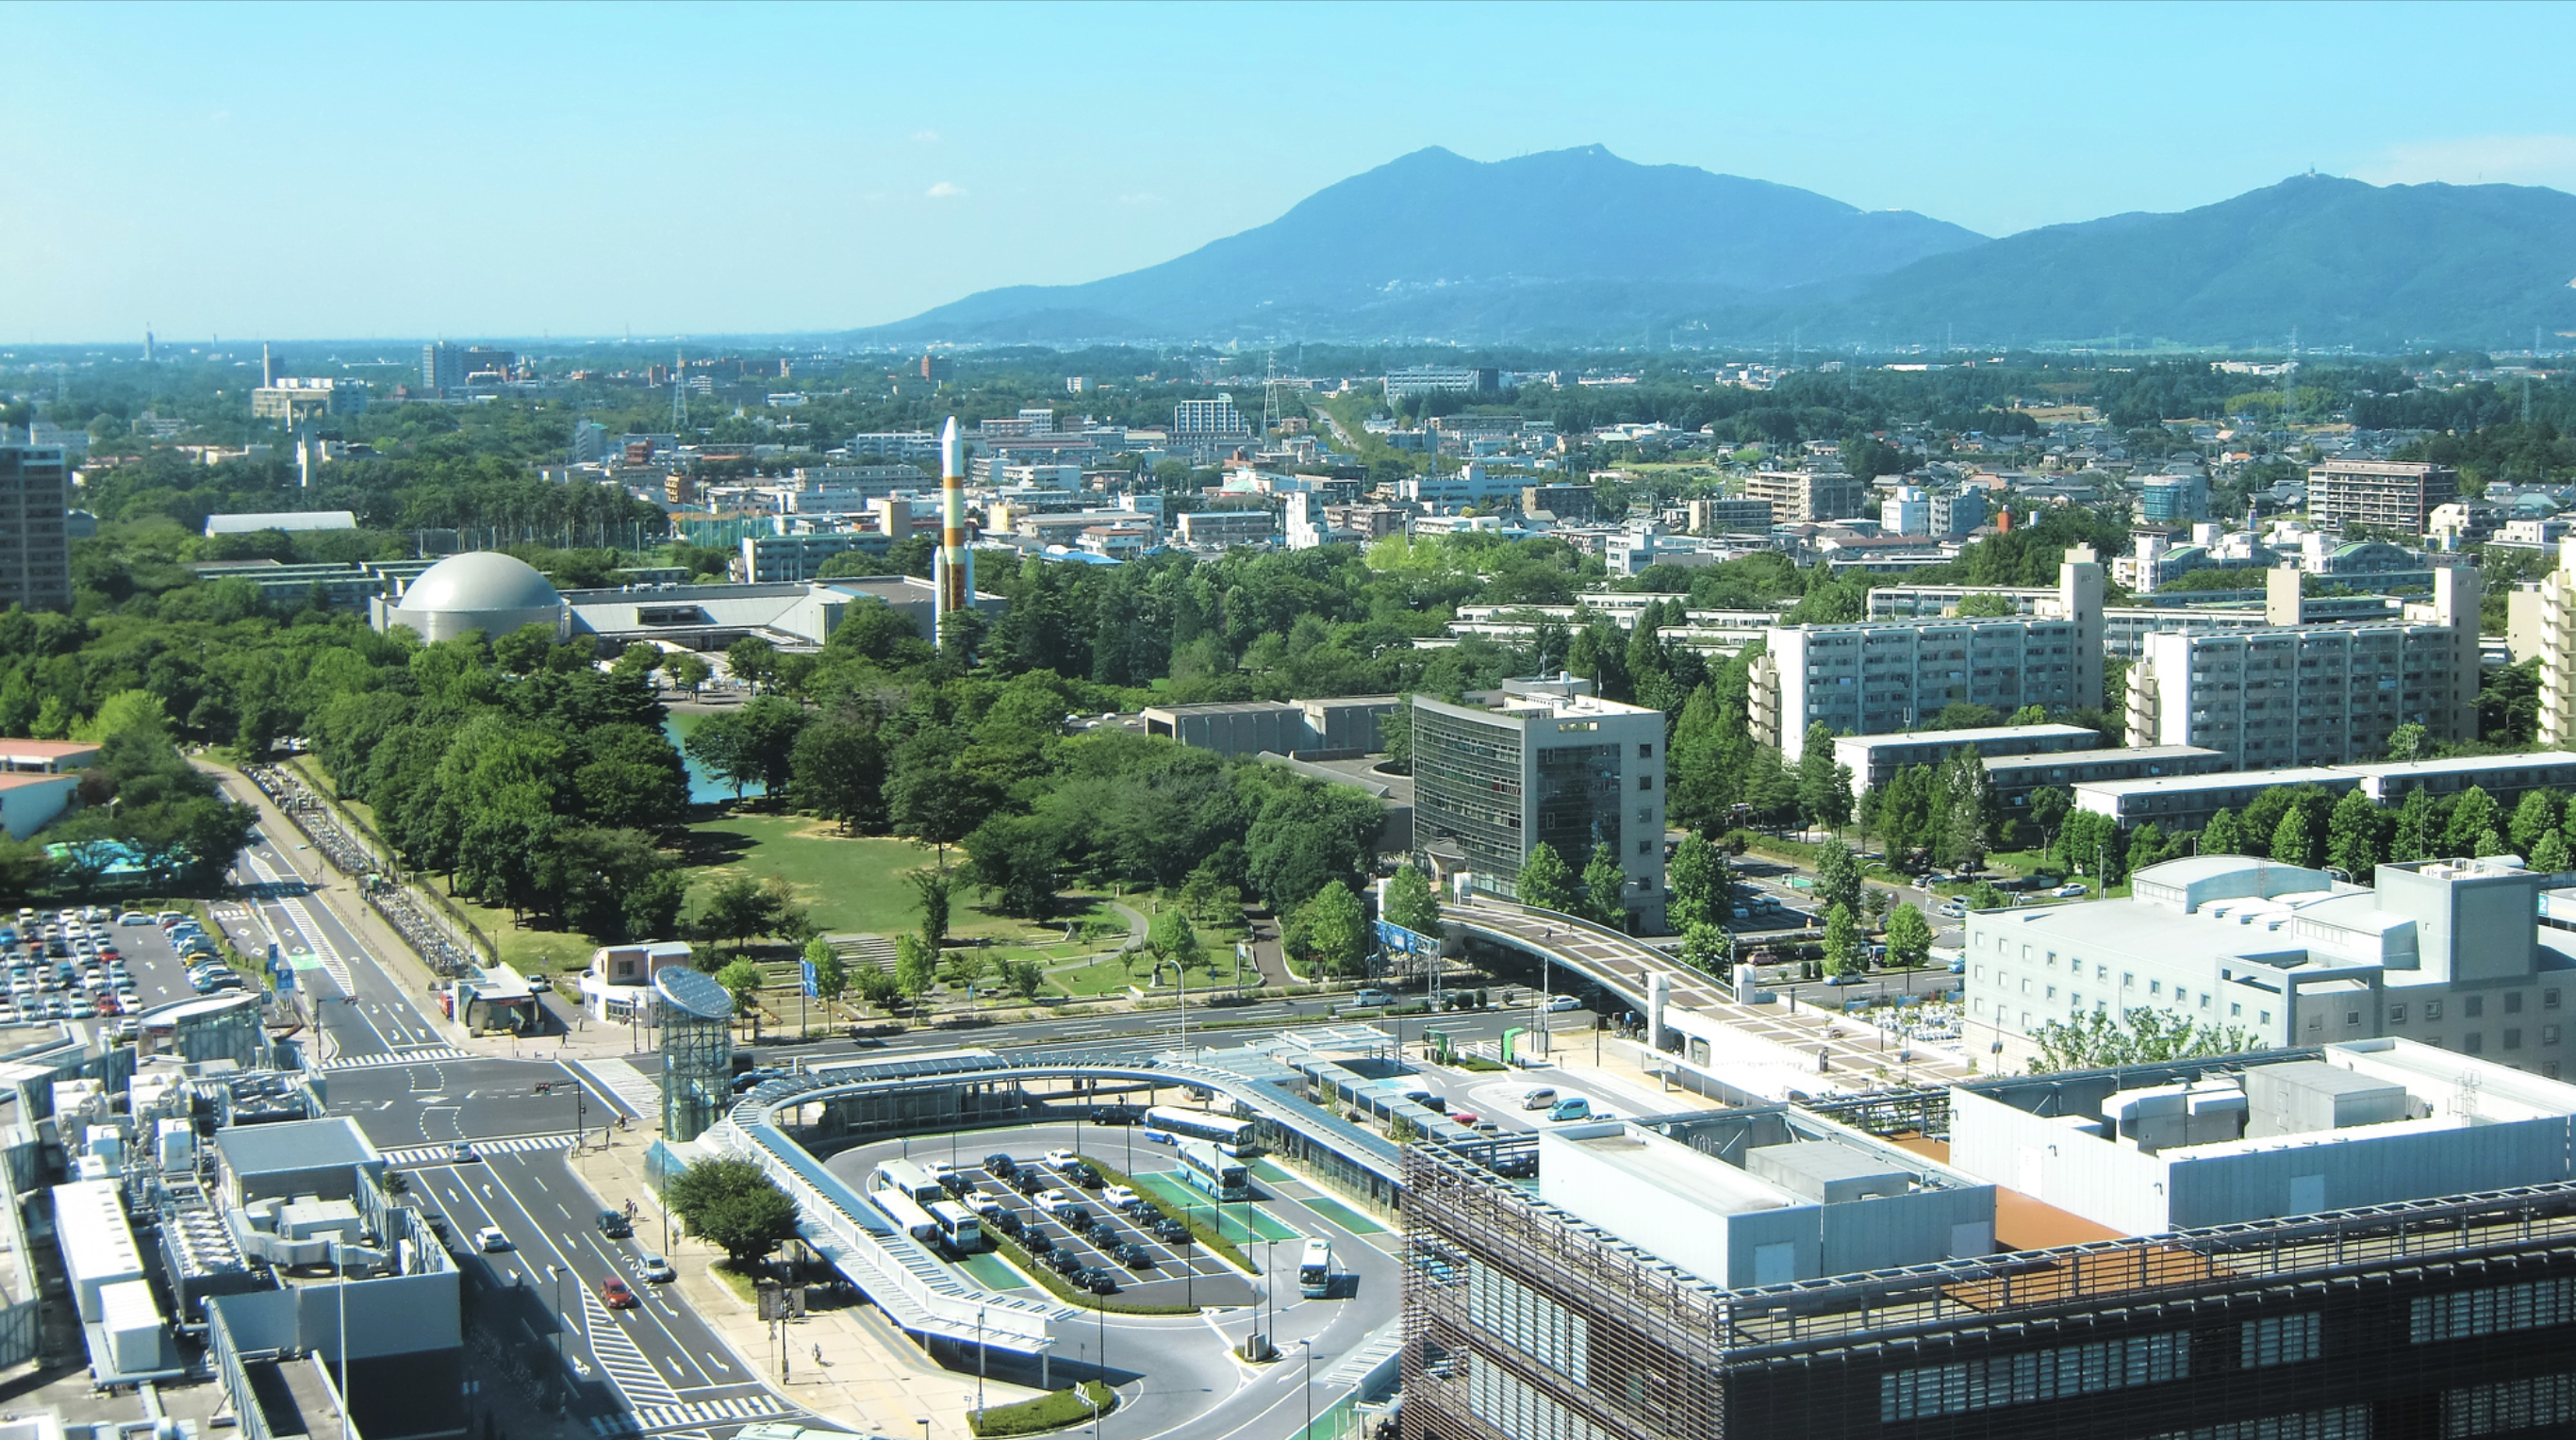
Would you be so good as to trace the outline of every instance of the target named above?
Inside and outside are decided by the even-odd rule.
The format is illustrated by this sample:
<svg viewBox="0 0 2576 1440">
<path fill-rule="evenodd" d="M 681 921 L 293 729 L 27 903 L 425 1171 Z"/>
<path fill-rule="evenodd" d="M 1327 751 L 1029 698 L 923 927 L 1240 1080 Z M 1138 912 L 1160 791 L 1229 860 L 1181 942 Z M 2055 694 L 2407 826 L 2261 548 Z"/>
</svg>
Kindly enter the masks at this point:
<svg viewBox="0 0 2576 1440">
<path fill-rule="evenodd" d="M 2182 214 L 2053 224 L 1777 307 L 1703 309 L 1710 330 L 1978 345 L 2463 343 L 2576 327 L 2576 196 L 2532 185 L 2367 185 L 2298 175 Z"/>
</svg>

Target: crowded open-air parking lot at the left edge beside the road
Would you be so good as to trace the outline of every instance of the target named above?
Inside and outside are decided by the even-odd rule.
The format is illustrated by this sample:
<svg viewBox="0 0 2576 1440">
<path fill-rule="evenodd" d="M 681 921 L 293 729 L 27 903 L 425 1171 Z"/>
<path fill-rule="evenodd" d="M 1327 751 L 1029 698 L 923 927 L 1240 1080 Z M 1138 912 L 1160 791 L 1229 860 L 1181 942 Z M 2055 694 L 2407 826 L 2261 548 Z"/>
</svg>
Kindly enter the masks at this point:
<svg viewBox="0 0 2576 1440">
<path fill-rule="evenodd" d="M 80 914 L 0 914 L 0 1025 L 116 1025 L 137 1010 L 198 994 L 188 961 L 152 917 L 98 907 Z"/>
</svg>

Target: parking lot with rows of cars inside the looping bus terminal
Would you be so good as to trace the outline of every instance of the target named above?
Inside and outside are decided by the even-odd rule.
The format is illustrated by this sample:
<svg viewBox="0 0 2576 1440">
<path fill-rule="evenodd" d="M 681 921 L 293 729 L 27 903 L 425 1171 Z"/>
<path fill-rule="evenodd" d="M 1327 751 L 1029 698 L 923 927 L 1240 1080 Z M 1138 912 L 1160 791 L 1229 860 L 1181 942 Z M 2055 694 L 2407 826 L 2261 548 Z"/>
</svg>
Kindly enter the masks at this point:
<svg viewBox="0 0 2576 1440">
<path fill-rule="evenodd" d="M 1064 1262 L 1048 1265 L 1056 1267 L 1059 1273 L 1061 1267 L 1105 1270 L 1115 1280 L 1118 1285 L 1115 1296 L 1121 1301 L 1144 1306 L 1252 1303 L 1255 1280 L 1242 1270 L 1236 1270 L 1231 1262 L 1226 1262 L 1218 1255 L 1211 1255 L 1206 1247 L 1195 1244 L 1185 1234 L 1177 1239 L 1154 1234 L 1149 1226 L 1162 1213 L 1151 1203 L 1144 1203 L 1144 1198 L 1139 1198 L 1139 1208 L 1121 1211 L 1103 1200 L 1105 1185 L 1084 1188 L 1066 1180 L 1064 1172 L 1048 1167 L 1043 1162 L 1046 1151 L 1051 1149 L 1072 1151 L 1077 1146 L 1074 1131 L 1077 1131 L 1074 1126 L 1033 1126 L 1012 1131 L 966 1133 L 958 1139 L 961 1149 L 956 1151 L 958 1154 L 956 1162 L 948 1162 L 951 1151 L 945 1144 L 914 1139 L 909 1146 L 909 1159 L 920 1164 L 933 1164 L 933 1162 L 953 1164 L 951 1172 L 971 1182 L 971 1190 L 966 1190 L 966 1195 L 981 1195 L 984 1203 L 1010 1216 L 1010 1221 L 987 1218 L 987 1224 L 992 1224 L 994 1231 L 1010 1234 L 1010 1226 L 1018 1224 L 1020 1226 L 1020 1234 L 1015 1236 L 1018 1244 L 1028 1249 L 1030 1260 L 1041 1265 L 1048 1265 L 1046 1260 L 1048 1255 L 1066 1255 Z M 1200 1218 L 1211 1221 L 1213 1218 L 1208 1208 L 1211 1200 L 1203 1193 L 1182 1190 L 1177 1175 L 1170 1177 L 1170 1185 L 1159 1182 L 1164 1172 L 1177 1167 L 1177 1162 L 1172 1146 L 1149 1141 L 1146 1133 L 1149 1131 L 1144 1131 L 1141 1126 L 1082 1126 L 1079 1154 L 1090 1154 L 1103 1164 L 1110 1164 L 1126 1175 L 1136 1175 L 1139 1188 L 1157 1190 L 1157 1198 L 1164 1198 L 1167 1203 L 1175 1195 L 1188 1195 L 1190 1203 L 1200 1211 Z M 902 1144 L 878 1144 L 855 1151 L 842 1151 L 832 1157 L 827 1164 L 835 1175 L 840 1175 L 853 1188 L 866 1193 L 868 1175 L 876 1170 L 876 1164 L 896 1154 L 904 1154 Z M 987 1154 L 1010 1154 L 1018 1172 L 1033 1175 L 1033 1180 L 1015 1182 L 1018 1175 L 1012 1180 L 994 1175 L 984 1164 Z M 1133 1162 L 1136 1170 L 1128 1170 L 1128 1162 Z M 1023 1185 L 1028 1188 L 1023 1190 Z M 1069 1200 L 1069 1206 L 1059 1206 L 1054 1213 L 1048 1213 L 1043 1206 L 1038 1206 L 1038 1195 L 1043 1193 L 1059 1193 L 1064 1200 Z M 1247 1203 L 1224 1206 L 1226 1211 L 1224 1234 L 1234 1239 L 1239 1247 L 1242 1236 L 1247 1234 L 1244 1231 L 1247 1224 L 1252 1226 L 1249 1234 L 1262 1239 L 1267 1239 L 1270 1234 L 1285 1234 L 1285 1236 L 1298 1234 L 1270 1216 L 1255 1213 L 1260 1206 L 1260 1195 L 1262 1185 L 1260 1180 L 1252 1180 L 1249 1206 Z M 1077 1229 L 1077 1211 L 1079 1221 L 1087 1221 L 1087 1229 Z M 1041 1244 L 1046 1249 L 1038 1249 Z M 1141 1255 L 1146 1257 L 1144 1265 L 1123 1265 L 1115 1257 L 1115 1252 L 1128 1244 L 1141 1249 Z M 1247 1255 L 1255 1257 L 1255 1262 L 1260 1262 L 1257 1255 L 1260 1239 L 1255 1239 L 1255 1244 L 1244 1249 Z M 1010 1262 L 1002 1260 L 1002 1255 L 1005 1252 L 997 1247 L 984 1255 L 969 1255 L 958 1265 L 969 1275 L 974 1275 L 976 1283 L 987 1288 L 1028 1288 L 1028 1280 L 1015 1275 Z"/>
</svg>

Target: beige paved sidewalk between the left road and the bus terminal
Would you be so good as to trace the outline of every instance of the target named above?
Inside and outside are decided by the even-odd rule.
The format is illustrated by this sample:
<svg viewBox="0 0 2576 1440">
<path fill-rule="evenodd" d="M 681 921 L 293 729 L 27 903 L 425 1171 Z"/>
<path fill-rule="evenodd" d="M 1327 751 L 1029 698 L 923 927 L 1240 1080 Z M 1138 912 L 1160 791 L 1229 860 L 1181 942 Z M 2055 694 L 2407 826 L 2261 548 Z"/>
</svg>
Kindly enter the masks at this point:
<svg viewBox="0 0 2576 1440">
<path fill-rule="evenodd" d="M 605 1149 L 592 1144 L 567 1159 L 574 1177 L 603 1208 L 634 1200 L 641 1247 L 662 1244 L 665 1226 L 662 1198 L 644 1180 L 649 1146 L 649 1136 L 613 1133 Z M 912 1435 L 927 1417 L 933 1435 L 966 1435 L 966 1414 L 974 1409 L 976 1391 L 974 1373 L 943 1368 L 868 1301 L 829 1303 L 829 1309 L 806 1311 L 801 1322 L 788 1322 L 788 1373 L 781 1381 L 778 1345 L 757 1306 L 711 1273 L 724 1252 L 703 1239 L 683 1236 L 677 1216 L 667 1216 L 667 1224 L 672 1239 L 662 1255 L 680 1273 L 675 1280 L 680 1298 L 773 1394 L 860 1432 Z M 814 1365 L 817 1347 L 822 1347 L 822 1368 Z M 984 1381 L 987 1407 L 1038 1394 L 1025 1386 Z"/>
</svg>

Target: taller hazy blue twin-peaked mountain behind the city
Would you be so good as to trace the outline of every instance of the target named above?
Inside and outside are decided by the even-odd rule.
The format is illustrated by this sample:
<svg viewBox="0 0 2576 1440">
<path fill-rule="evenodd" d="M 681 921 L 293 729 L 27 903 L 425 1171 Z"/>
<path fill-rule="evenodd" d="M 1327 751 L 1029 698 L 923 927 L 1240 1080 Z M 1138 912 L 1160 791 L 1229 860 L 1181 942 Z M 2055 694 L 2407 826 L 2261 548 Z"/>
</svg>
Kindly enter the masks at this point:
<svg viewBox="0 0 2576 1440">
<path fill-rule="evenodd" d="M 1592 144 L 1476 162 L 1417 149 L 1177 260 L 981 291 L 860 332 L 920 343 L 1394 335 L 1597 340 L 1677 309 L 1857 281 L 1981 245 L 1911 211 L 1633 165 Z"/>
</svg>

